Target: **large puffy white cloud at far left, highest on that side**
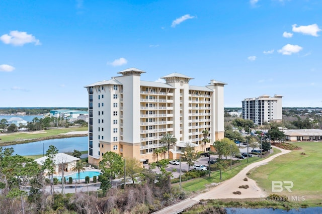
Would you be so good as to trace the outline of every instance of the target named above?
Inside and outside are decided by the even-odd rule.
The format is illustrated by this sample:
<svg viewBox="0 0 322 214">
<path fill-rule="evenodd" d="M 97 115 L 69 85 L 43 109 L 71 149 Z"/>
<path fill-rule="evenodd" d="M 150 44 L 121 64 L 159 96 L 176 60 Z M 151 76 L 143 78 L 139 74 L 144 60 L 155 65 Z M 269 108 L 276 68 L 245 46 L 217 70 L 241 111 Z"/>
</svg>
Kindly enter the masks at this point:
<svg viewBox="0 0 322 214">
<path fill-rule="evenodd" d="M 0 37 L 0 40 L 9 45 L 23 46 L 27 43 L 35 43 L 35 45 L 41 45 L 40 41 L 36 39 L 32 34 L 20 31 L 10 31 L 9 35 L 4 34 Z"/>
</svg>

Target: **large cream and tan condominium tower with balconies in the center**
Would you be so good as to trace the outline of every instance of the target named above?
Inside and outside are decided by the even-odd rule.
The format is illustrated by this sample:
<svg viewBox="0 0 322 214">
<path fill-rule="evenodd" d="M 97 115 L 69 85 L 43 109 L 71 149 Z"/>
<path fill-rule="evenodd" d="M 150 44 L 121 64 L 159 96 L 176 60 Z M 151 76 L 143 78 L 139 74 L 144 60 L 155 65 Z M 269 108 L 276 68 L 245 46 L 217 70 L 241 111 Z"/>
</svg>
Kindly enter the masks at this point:
<svg viewBox="0 0 322 214">
<path fill-rule="evenodd" d="M 192 86 L 189 80 L 193 78 L 180 73 L 161 77 L 165 83 L 143 81 L 140 76 L 145 72 L 136 68 L 118 73 L 85 86 L 89 93 L 89 163 L 98 164 L 109 151 L 155 162 L 153 151 L 167 146 L 162 143 L 167 133 L 177 138 L 170 150 L 174 159 L 186 143 L 204 151 L 224 137 L 225 83 L 210 80 L 207 86 Z M 204 130 L 210 140 L 206 145 Z"/>
</svg>

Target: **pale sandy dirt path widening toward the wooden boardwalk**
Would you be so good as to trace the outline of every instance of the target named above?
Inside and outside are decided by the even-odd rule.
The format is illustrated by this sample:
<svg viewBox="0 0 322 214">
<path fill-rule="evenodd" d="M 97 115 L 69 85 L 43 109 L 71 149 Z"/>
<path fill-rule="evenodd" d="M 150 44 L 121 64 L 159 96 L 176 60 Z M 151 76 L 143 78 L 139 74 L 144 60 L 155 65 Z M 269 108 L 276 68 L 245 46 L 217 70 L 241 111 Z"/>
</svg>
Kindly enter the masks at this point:
<svg viewBox="0 0 322 214">
<path fill-rule="evenodd" d="M 277 147 L 275 147 L 277 148 Z M 267 164 L 269 161 L 273 160 L 274 158 L 284 155 L 286 153 L 291 152 L 290 150 L 285 150 L 281 148 L 277 148 L 281 150 L 281 153 L 272 155 L 269 158 L 266 158 L 265 160 L 252 163 L 245 167 L 243 170 L 241 170 L 238 174 L 236 174 L 234 177 L 230 178 L 229 180 L 226 180 L 222 182 L 221 184 L 213 187 L 211 190 L 201 193 L 198 196 L 192 198 L 194 200 L 201 200 L 201 199 L 218 199 L 218 198 L 259 198 L 259 197 L 265 197 L 266 193 L 257 186 L 256 181 L 253 179 L 247 178 L 248 181 L 244 181 L 244 178 L 246 178 L 246 173 L 249 172 L 251 169 Z M 238 188 L 241 185 L 249 185 L 248 189 Z M 233 194 L 234 191 L 240 191 L 241 194 Z"/>
</svg>

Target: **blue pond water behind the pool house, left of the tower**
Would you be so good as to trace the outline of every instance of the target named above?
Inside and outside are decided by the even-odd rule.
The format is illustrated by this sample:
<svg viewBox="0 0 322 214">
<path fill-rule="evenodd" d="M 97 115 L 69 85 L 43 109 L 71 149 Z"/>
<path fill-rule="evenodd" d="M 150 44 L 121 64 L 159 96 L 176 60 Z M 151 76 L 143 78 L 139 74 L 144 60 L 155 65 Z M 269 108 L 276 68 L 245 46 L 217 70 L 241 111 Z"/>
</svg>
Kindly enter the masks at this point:
<svg viewBox="0 0 322 214">
<path fill-rule="evenodd" d="M 73 152 L 74 149 L 78 151 L 87 151 L 88 137 L 51 139 L 32 143 L 3 146 L 3 148 L 13 147 L 15 150 L 14 154 L 25 156 L 40 155 L 43 153 L 46 154 L 46 151 L 50 145 L 54 145 L 58 149 L 58 152 Z"/>
</svg>

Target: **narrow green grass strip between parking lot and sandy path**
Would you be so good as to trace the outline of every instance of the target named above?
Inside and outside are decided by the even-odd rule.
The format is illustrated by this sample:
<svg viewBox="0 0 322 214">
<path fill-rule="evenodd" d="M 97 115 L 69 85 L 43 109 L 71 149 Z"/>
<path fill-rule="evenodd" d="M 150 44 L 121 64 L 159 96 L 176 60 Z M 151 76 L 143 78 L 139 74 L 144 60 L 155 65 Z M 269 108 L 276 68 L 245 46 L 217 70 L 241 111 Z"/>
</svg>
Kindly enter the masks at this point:
<svg viewBox="0 0 322 214">
<path fill-rule="evenodd" d="M 274 152 L 271 155 L 280 153 L 281 151 L 278 149 L 274 149 Z M 269 156 L 267 156 L 269 157 Z M 252 157 L 249 158 L 249 162 L 247 163 L 247 159 L 240 160 L 239 163 L 235 164 L 232 166 L 232 169 L 228 167 L 224 172 L 222 172 L 221 176 L 222 179 L 220 180 L 220 172 L 219 171 L 214 171 L 210 173 L 210 177 L 205 176 L 201 178 L 195 178 L 192 180 L 184 181 L 182 182 L 181 186 L 182 188 L 187 191 L 188 193 L 193 193 L 193 192 L 199 192 L 202 190 L 205 190 L 208 186 L 211 186 L 213 183 L 219 183 L 224 180 L 228 180 L 235 176 L 240 170 L 244 169 L 246 166 L 249 164 L 263 160 L 264 158 L 260 157 Z M 174 186 L 179 187 L 179 183 L 173 184 Z"/>
</svg>

